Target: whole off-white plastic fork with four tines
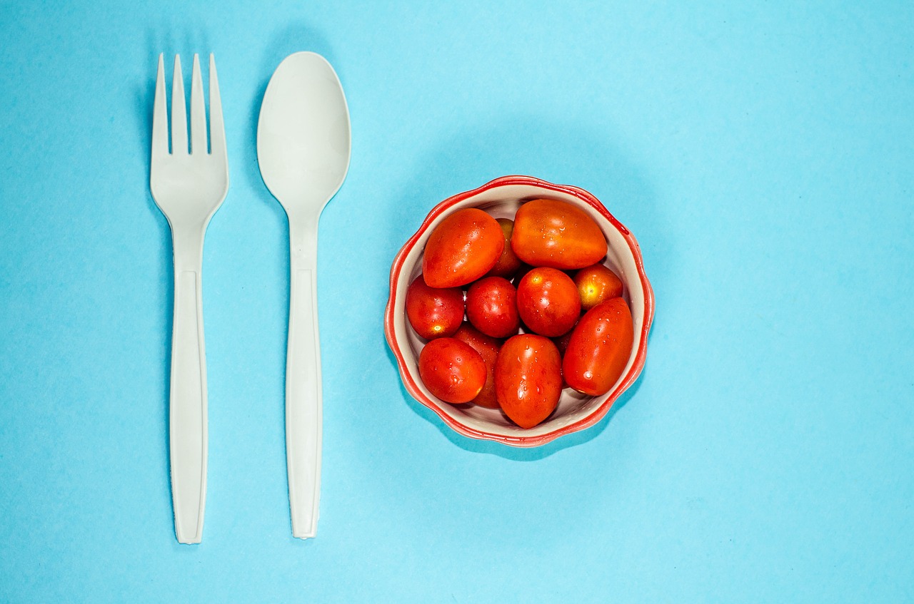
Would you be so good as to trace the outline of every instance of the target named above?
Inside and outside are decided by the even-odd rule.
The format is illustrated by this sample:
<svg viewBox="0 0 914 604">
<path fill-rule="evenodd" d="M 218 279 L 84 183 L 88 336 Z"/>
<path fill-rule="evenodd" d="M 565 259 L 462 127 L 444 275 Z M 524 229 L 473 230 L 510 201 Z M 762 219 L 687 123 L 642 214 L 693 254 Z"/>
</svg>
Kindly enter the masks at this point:
<svg viewBox="0 0 914 604">
<path fill-rule="evenodd" d="M 209 147 L 200 62 L 194 55 L 190 89 L 190 150 L 181 59 L 172 80 L 171 152 L 168 151 L 165 68 L 159 55 L 153 110 L 150 189 L 172 232 L 175 320 L 172 326 L 169 443 L 175 536 L 199 543 L 207 502 L 207 359 L 203 346 L 200 274 L 207 224 L 228 193 L 228 155 L 216 61 L 209 56 Z"/>
</svg>

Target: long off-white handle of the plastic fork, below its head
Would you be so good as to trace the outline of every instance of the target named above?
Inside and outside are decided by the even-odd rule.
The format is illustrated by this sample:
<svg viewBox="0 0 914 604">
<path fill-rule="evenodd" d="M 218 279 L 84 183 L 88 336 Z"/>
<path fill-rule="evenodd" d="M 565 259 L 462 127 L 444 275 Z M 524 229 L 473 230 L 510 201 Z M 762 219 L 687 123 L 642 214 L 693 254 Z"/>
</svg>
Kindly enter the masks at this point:
<svg viewBox="0 0 914 604">
<path fill-rule="evenodd" d="M 169 443 L 175 536 L 200 543 L 207 500 L 207 360 L 203 344 L 203 233 L 173 232 L 175 318 L 172 327 Z"/>
</svg>

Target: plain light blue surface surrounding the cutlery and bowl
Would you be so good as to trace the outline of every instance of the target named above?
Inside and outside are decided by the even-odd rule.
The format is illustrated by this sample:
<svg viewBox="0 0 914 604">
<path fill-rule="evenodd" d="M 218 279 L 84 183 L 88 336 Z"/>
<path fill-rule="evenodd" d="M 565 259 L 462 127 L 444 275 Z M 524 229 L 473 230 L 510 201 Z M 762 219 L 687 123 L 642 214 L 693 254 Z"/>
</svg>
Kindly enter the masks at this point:
<svg viewBox="0 0 914 604">
<path fill-rule="evenodd" d="M 914 599 L 910 2 L 0 5 L 0 601 Z M 699 5 L 700 4 L 700 5 Z M 348 178 L 320 228 L 324 484 L 292 539 L 287 225 L 255 127 L 282 57 L 335 66 Z M 159 52 L 216 54 L 203 544 L 168 484 L 171 240 L 148 187 Z M 508 173 L 643 247 L 646 369 L 536 450 L 399 384 L 399 246 Z"/>
</svg>

